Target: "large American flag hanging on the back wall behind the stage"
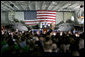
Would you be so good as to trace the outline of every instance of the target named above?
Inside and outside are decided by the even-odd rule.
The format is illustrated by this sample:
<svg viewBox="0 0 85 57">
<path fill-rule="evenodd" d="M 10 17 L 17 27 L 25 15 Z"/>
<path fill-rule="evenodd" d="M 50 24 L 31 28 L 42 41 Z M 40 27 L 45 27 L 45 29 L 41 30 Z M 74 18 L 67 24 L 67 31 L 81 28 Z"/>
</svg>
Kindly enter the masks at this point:
<svg viewBox="0 0 85 57">
<path fill-rule="evenodd" d="M 51 24 L 56 22 L 56 11 L 51 10 L 30 10 L 24 12 L 24 22 L 27 25 L 39 23 Z"/>
</svg>

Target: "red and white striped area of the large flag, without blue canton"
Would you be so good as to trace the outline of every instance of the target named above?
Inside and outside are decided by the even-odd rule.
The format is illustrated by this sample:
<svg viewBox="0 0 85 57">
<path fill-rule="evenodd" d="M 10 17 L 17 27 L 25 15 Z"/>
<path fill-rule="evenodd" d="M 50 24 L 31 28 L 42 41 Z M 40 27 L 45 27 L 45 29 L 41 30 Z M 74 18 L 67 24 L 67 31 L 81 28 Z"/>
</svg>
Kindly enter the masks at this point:
<svg viewBox="0 0 85 57">
<path fill-rule="evenodd" d="M 27 25 L 37 25 L 38 22 L 47 22 L 51 24 L 52 22 L 56 22 L 56 11 L 53 10 L 37 10 L 37 21 L 24 21 Z"/>
</svg>

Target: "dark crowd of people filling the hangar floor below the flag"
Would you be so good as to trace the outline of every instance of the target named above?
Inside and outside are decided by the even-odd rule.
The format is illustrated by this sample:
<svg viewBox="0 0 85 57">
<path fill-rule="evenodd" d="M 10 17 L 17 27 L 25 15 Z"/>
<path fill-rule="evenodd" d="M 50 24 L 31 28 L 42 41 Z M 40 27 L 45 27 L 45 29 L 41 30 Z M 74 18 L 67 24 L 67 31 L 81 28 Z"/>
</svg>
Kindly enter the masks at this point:
<svg viewBox="0 0 85 57">
<path fill-rule="evenodd" d="M 2 56 L 82 56 L 84 32 L 1 29 Z"/>
</svg>

